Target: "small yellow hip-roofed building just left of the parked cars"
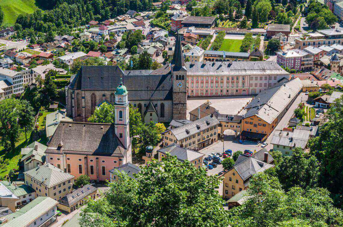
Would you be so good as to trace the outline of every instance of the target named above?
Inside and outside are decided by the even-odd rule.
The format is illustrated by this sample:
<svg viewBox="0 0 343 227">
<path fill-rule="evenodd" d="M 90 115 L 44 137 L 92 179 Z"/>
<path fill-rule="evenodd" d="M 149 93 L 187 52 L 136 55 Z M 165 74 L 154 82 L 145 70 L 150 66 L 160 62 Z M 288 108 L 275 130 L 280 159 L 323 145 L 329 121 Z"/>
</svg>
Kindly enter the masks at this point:
<svg viewBox="0 0 343 227">
<path fill-rule="evenodd" d="M 166 154 L 170 154 L 171 156 L 176 156 L 176 158 L 182 162 L 188 160 L 190 161 L 196 168 L 201 168 L 203 163 L 204 154 L 198 151 L 191 150 L 189 148 L 180 147 L 177 144 L 171 144 L 166 146 L 158 151 L 158 161 L 162 161 L 162 158 L 166 157 Z"/>
</svg>

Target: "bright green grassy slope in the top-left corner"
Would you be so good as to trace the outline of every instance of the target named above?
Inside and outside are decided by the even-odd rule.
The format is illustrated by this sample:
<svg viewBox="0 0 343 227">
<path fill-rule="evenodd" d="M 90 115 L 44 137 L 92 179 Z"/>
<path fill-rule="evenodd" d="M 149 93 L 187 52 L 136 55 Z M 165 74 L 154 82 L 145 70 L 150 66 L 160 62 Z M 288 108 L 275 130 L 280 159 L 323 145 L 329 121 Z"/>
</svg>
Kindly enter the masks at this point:
<svg viewBox="0 0 343 227">
<path fill-rule="evenodd" d="M 14 25 L 18 14 L 33 13 L 38 6 L 35 0 L 1 0 L 0 5 L 3 10 L 3 23 Z"/>
</svg>

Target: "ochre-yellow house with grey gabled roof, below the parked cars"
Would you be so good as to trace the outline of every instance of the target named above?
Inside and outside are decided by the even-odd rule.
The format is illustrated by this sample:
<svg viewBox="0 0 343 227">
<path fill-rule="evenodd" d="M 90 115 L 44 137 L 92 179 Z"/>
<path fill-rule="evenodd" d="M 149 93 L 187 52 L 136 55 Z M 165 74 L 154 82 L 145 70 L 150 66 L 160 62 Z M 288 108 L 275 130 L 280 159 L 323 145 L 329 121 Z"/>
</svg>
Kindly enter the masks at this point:
<svg viewBox="0 0 343 227">
<path fill-rule="evenodd" d="M 273 162 L 273 157 L 265 148 L 255 152 L 251 157 L 239 155 L 234 167 L 223 175 L 223 197 L 228 199 L 246 190 L 251 176 L 273 167 Z"/>
</svg>

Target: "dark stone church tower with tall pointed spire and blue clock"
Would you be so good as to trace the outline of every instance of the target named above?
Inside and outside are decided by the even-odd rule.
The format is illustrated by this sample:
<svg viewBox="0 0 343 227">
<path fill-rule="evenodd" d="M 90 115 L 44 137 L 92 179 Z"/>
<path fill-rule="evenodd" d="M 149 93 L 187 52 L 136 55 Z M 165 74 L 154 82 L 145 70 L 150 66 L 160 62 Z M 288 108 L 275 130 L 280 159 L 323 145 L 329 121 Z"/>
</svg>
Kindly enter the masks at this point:
<svg viewBox="0 0 343 227">
<path fill-rule="evenodd" d="M 187 116 L 187 69 L 182 54 L 181 38 L 177 32 L 173 61 L 171 62 L 173 76 L 173 119 L 186 119 Z"/>
</svg>

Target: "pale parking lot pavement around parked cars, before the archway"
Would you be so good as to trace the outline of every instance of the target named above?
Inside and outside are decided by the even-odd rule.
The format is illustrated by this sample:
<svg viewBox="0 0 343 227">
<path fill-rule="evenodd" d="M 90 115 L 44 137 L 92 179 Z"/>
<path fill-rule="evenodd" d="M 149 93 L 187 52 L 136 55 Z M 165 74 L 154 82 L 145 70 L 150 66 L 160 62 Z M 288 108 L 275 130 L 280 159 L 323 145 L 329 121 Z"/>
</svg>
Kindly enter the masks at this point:
<svg viewBox="0 0 343 227">
<path fill-rule="evenodd" d="M 224 137 L 224 150 L 230 149 L 232 150 L 233 153 L 235 153 L 237 150 L 244 151 L 246 149 L 251 150 L 252 152 L 254 150 L 260 150 L 262 149 L 261 147 L 257 147 L 257 143 L 251 142 L 251 141 L 243 141 L 243 144 L 239 143 L 238 139 L 234 138 L 234 136 L 227 135 Z M 199 150 L 199 152 L 205 154 L 207 157 L 210 155 L 212 152 L 220 152 L 223 153 L 223 142 L 217 141 L 208 147 L 205 147 L 204 149 Z M 204 157 L 204 158 L 205 158 Z M 221 157 L 223 160 L 223 157 Z M 212 163 L 210 161 L 209 163 Z M 217 173 L 220 173 L 223 171 L 223 165 L 222 164 L 217 164 L 216 168 L 213 168 L 212 170 L 208 170 L 209 175 L 215 175 Z"/>
</svg>

